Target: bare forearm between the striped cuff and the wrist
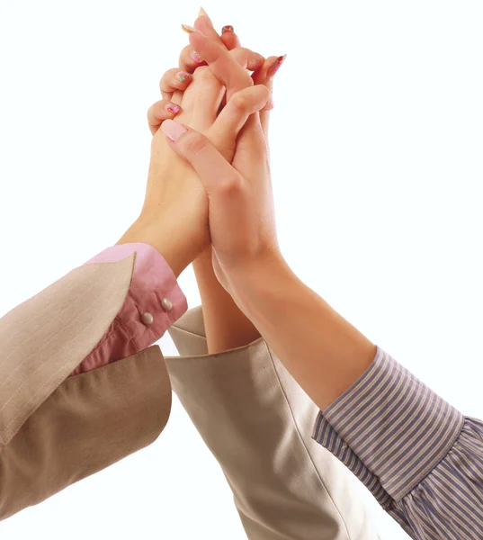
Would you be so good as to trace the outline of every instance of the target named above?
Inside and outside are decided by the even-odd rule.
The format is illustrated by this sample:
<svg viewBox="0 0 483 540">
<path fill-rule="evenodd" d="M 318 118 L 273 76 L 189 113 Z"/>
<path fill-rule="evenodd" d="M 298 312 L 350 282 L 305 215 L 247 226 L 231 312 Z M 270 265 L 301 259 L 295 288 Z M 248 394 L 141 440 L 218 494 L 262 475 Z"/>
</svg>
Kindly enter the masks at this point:
<svg viewBox="0 0 483 540">
<path fill-rule="evenodd" d="M 237 304 L 313 401 L 324 410 L 367 370 L 376 346 L 278 257 L 241 270 Z"/>
</svg>

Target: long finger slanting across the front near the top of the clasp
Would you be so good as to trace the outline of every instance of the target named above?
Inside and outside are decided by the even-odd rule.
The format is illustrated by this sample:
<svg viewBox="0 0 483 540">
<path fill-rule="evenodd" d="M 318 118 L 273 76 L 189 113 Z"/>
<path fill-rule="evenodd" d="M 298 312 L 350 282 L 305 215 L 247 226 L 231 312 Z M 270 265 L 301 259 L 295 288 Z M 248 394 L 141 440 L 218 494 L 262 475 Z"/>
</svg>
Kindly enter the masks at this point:
<svg viewBox="0 0 483 540">
<path fill-rule="evenodd" d="M 190 33 L 192 47 L 198 50 L 210 65 L 211 71 L 227 88 L 227 100 L 238 90 L 254 84 L 246 69 L 240 66 L 237 59 L 227 49 L 214 40 L 210 40 L 200 31 Z M 260 66 L 263 62 L 260 62 Z"/>
</svg>

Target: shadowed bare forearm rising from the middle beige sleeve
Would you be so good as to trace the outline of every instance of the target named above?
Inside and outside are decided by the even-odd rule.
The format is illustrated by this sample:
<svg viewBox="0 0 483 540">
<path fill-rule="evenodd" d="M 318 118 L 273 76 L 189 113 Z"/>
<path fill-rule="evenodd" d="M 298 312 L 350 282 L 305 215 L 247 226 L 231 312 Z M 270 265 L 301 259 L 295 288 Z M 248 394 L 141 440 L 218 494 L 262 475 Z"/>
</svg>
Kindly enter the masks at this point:
<svg viewBox="0 0 483 540">
<path fill-rule="evenodd" d="M 253 323 L 219 284 L 211 262 L 211 247 L 193 262 L 193 268 L 200 289 L 210 354 L 243 347 L 260 338 Z"/>
</svg>

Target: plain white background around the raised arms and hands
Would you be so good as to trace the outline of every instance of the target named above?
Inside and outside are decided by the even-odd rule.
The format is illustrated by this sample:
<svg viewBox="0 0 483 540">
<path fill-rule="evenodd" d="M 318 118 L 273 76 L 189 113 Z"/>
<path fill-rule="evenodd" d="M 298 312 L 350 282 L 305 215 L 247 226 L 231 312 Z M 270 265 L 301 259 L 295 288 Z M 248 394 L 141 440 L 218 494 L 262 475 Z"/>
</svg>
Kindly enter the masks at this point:
<svg viewBox="0 0 483 540">
<path fill-rule="evenodd" d="M 483 418 L 483 4 L 204 5 L 277 74 L 282 249 L 336 310 Z M 0 313 L 116 243 L 144 200 L 148 106 L 199 4 L 0 0 Z M 191 269 L 180 278 L 199 303 Z M 169 338 L 161 340 L 174 354 Z M 407 536 L 361 487 L 382 538 Z M 0 523 L 0 537 L 244 538 L 178 401 L 157 442 Z"/>
</svg>

